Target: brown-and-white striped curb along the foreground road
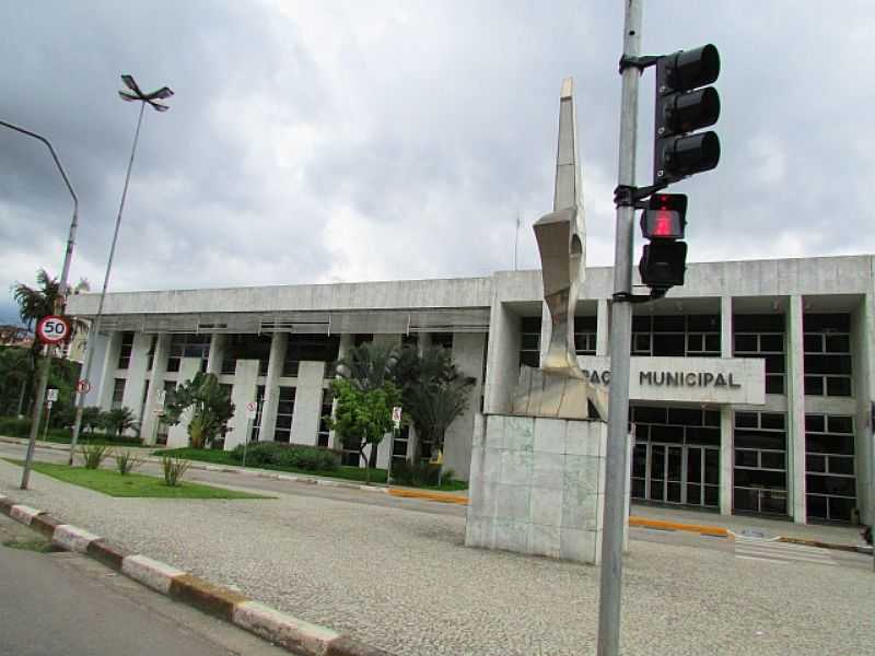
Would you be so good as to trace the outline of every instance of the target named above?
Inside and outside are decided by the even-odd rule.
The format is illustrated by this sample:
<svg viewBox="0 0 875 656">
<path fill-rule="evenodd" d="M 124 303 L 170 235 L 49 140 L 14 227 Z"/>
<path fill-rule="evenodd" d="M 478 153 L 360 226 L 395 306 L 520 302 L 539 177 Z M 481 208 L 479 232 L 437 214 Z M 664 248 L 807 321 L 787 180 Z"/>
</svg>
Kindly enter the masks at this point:
<svg viewBox="0 0 875 656">
<path fill-rule="evenodd" d="M 93 558 L 175 601 L 224 620 L 292 654 L 303 656 L 392 656 L 331 629 L 311 624 L 234 590 L 162 563 L 65 524 L 45 511 L 19 504 L 0 494 L 0 513 L 30 526 L 65 551 Z"/>
</svg>

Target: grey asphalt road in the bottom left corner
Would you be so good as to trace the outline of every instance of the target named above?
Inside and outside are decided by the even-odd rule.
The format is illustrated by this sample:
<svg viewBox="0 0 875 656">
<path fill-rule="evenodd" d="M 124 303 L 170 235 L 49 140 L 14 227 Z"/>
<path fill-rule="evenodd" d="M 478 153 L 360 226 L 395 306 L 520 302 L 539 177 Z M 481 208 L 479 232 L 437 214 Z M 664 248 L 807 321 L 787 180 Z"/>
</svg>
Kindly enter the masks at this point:
<svg viewBox="0 0 875 656">
<path fill-rule="evenodd" d="M 0 515 L 0 542 L 42 536 Z M 288 656 L 74 553 L 0 546 L 2 656 Z"/>
</svg>

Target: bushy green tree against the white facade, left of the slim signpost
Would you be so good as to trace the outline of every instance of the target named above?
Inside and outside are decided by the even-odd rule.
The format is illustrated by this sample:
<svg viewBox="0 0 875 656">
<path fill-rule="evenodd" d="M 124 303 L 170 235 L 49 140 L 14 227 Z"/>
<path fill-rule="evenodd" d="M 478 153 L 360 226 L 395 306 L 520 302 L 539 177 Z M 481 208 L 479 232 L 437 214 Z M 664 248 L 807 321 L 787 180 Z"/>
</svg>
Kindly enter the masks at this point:
<svg viewBox="0 0 875 656">
<path fill-rule="evenodd" d="M 228 422 L 234 417 L 234 403 L 222 389 L 215 374 L 198 372 L 194 378 L 179 385 L 164 406 L 166 421 L 175 425 L 182 421 L 183 412 L 192 409 L 188 422 L 188 441 L 194 448 L 212 445 L 217 435 L 228 431 Z"/>
</svg>

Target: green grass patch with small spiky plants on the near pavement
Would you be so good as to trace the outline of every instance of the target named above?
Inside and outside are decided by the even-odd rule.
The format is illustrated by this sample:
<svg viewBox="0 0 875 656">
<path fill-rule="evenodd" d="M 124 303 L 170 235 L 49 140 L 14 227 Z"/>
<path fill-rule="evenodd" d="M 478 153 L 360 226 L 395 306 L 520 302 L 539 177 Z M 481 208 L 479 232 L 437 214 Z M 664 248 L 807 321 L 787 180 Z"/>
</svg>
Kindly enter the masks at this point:
<svg viewBox="0 0 875 656">
<path fill-rule="evenodd" d="M 22 465 L 21 460 L 8 459 L 13 465 Z M 180 482 L 176 487 L 164 484 L 163 479 L 142 473 L 121 476 L 110 469 L 85 469 L 50 462 L 33 462 L 33 470 L 52 478 L 81 485 L 89 490 L 103 492 L 109 496 L 154 496 L 158 499 L 272 499 L 260 494 L 248 494 L 222 488 L 201 485 L 200 483 Z"/>
</svg>

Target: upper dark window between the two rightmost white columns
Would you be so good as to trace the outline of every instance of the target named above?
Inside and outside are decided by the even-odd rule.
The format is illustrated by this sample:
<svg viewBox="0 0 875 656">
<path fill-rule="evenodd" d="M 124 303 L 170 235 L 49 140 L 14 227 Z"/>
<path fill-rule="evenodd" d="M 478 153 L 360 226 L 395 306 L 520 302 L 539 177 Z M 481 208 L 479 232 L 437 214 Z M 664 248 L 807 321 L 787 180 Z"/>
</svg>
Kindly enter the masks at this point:
<svg viewBox="0 0 875 656">
<path fill-rule="evenodd" d="M 802 323 L 805 394 L 852 396 L 850 315 L 806 314 Z"/>
</svg>

